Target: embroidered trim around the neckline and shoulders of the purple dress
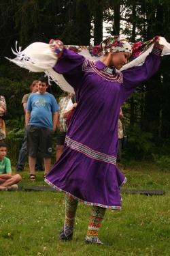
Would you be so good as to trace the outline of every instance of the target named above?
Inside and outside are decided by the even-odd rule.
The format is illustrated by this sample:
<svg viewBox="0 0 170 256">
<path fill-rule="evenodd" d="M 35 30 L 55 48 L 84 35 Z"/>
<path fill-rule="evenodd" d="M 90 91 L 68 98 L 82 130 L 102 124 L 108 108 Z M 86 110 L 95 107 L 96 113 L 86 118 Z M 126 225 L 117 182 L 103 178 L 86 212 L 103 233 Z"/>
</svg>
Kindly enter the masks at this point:
<svg viewBox="0 0 170 256">
<path fill-rule="evenodd" d="M 118 82 L 123 83 L 123 76 L 122 73 L 116 73 L 116 74 L 109 74 L 104 69 L 98 70 L 95 66 L 94 61 L 89 61 L 88 59 L 84 60 L 82 70 L 85 72 L 95 72 L 99 74 L 99 76 L 103 77 L 103 79 L 109 81 L 109 82 Z"/>
</svg>

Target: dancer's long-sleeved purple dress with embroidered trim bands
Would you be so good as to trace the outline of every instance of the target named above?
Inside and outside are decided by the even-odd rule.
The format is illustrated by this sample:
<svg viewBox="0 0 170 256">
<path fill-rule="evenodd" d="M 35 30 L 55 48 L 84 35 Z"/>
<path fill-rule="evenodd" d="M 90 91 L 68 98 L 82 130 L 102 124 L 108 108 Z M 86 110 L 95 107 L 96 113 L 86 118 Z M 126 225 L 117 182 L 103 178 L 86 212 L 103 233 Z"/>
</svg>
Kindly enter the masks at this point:
<svg viewBox="0 0 170 256">
<path fill-rule="evenodd" d="M 126 177 L 116 167 L 120 106 L 158 70 L 160 53 L 154 47 L 142 66 L 117 73 L 64 49 L 54 70 L 75 89 L 78 106 L 65 150 L 46 177 L 50 186 L 89 205 L 121 208 L 120 186 Z"/>
</svg>

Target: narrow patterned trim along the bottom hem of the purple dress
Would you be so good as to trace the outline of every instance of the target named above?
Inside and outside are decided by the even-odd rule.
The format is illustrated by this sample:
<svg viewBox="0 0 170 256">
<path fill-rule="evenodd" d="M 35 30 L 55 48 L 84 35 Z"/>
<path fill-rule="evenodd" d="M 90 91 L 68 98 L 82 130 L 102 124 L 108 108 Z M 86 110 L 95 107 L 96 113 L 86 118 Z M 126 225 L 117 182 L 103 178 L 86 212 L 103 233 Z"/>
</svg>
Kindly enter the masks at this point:
<svg viewBox="0 0 170 256">
<path fill-rule="evenodd" d="M 110 208 L 110 209 L 114 209 L 114 210 L 122 210 L 122 206 L 115 206 L 115 205 L 103 205 L 101 203 L 91 203 L 91 202 L 88 202 L 88 201 L 84 201 L 78 197 L 75 197 L 74 195 L 68 193 L 67 191 L 61 189 L 61 188 L 58 188 L 57 186 L 55 186 L 54 184 L 52 184 L 51 182 L 49 182 L 49 180 L 45 179 L 44 180 L 48 185 L 52 186 L 52 188 L 58 190 L 59 192 L 64 192 L 66 193 L 67 195 L 73 197 L 73 199 L 76 199 L 78 201 L 81 201 L 83 203 L 85 203 L 86 205 L 95 205 L 95 206 L 99 206 L 99 207 L 102 207 L 102 208 Z M 122 184 L 124 184 L 124 182 L 122 182 Z"/>
</svg>

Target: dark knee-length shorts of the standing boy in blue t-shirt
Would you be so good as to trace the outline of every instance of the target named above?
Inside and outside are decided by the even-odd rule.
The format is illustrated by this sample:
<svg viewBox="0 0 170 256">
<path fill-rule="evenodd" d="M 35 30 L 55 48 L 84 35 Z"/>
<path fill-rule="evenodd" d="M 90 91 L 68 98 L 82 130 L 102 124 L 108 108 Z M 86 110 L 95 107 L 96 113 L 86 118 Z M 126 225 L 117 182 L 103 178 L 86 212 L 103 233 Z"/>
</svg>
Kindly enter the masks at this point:
<svg viewBox="0 0 170 256">
<path fill-rule="evenodd" d="M 27 152 L 33 158 L 37 152 L 43 158 L 52 156 L 52 130 L 42 126 L 27 126 Z"/>
</svg>

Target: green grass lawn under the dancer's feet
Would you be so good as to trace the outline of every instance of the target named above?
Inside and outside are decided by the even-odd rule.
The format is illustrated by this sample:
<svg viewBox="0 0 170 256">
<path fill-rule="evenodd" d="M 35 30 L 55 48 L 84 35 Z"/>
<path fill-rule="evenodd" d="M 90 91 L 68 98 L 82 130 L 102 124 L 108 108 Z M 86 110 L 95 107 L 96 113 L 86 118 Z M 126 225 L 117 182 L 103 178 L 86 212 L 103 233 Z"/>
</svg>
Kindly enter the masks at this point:
<svg viewBox="0 0 170 256">
<path fill-rule="evenodd" d="M 1 256 L 162 256 L 170 255 L 170 172 L 150 163 L 125 164 L 124 188 L 163 189 L 165 195 L 122 195 L 123 210 L 107 210 L 100 231 L 103 246 L 84 243 L 90 207 L 79 204 L 73 241 L 60 242 L 58 232 L 65 216 L 65 195 L 53 192 L 0 192 Z M 43 173 L 22 186 L 45 185 Z"/>
</svg>

